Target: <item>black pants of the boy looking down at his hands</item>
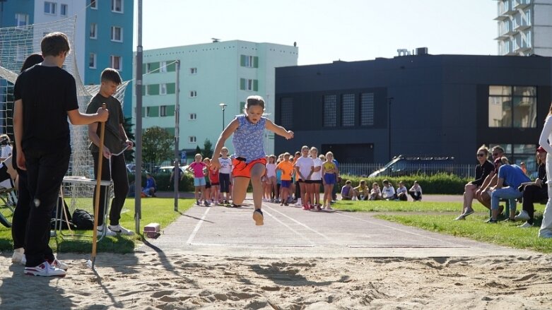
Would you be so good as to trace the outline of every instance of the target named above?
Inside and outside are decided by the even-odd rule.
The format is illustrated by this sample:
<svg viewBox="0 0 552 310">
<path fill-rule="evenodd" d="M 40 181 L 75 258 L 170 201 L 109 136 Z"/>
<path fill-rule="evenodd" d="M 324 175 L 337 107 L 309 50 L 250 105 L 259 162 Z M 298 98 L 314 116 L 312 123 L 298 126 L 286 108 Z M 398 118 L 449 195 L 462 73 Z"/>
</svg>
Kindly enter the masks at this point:
<svg viewBox="0 0 552 310">
<path fill-rule="evenodd" d="M 94 157 L 94 177 L 98 179 L 98 153 L 92 153 Z M 136 175 L 136 177 L 140 177 Z M 124 155 L 111 157 L 111 174 L 110 160 L 103 157 L 102 159 L 102 180 L 113 180 L 113 200 L 111 201 L 110 210 L 110 225 L 119 225 L 121 218 L 121 210 L 124 206 L 124 201 L 129 193 L 129 175 L 127 174 L 127 166 L 124 162 Z M 100 211 L 98 216 L 98 226 L 103 225 L 103 213 L 105 210 L 105 186 L 100 189 Z M 94 201 L 96 201 L 96 189 L 94 189 Z"/>
</svg>

